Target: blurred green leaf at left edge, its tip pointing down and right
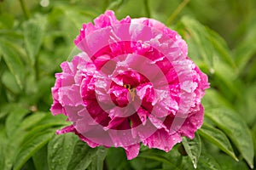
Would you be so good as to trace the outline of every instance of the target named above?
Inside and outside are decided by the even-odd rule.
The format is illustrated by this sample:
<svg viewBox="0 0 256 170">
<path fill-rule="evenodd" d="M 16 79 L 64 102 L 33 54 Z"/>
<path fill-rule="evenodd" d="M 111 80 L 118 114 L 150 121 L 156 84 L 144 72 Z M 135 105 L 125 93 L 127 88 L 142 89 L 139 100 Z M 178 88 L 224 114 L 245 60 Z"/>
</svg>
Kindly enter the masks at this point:
<svg viewBox="0 0 256 170">
<path fill-rule="evenodd" d="M 14 43 L 0 39 L 0 51 L 3 53 L 3 59 L 8 65 L 9 71 L 15 76 L 15 80 L 23 89 L 23 81 L 25 77 L 25 67 L 21 61 L 21 53 L 19 47 Z"/>
</svg>

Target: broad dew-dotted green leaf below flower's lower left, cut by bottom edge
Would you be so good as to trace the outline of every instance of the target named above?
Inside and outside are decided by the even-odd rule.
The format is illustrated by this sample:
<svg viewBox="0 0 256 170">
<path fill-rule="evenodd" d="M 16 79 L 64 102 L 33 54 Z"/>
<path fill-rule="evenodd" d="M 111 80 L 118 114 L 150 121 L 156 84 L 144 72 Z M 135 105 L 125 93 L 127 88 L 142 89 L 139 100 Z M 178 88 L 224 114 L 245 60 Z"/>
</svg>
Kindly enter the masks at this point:
<svg viewBox="0 0 256 170">
<path fill-rule="evenodd" d="M 67 169 L 77 141 L 78 138 L 73 133 L 55 135 L 48 144 L 49 169 Z"/>
</svg>

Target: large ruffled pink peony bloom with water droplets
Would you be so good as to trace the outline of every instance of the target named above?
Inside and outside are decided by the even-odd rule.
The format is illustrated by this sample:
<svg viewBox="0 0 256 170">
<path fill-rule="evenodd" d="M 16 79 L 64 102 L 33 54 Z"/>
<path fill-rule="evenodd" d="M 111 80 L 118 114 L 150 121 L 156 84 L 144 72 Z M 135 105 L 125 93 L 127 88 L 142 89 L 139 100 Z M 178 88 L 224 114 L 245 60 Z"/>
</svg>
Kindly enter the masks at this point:
<svg viewBox="0 0 256 170">
<path fill-rule="evenodd" d="M 52 88 L 53 115 L 96 147 L 123 147 L 128 159 L 148 148 L 172 150 L 203 122 L 207 76 L 188 58 L 186 42 L 157 20 L 117 20 L 106 11 L 74 40 L 80 53 L 61 64 Z"/>
</svg>

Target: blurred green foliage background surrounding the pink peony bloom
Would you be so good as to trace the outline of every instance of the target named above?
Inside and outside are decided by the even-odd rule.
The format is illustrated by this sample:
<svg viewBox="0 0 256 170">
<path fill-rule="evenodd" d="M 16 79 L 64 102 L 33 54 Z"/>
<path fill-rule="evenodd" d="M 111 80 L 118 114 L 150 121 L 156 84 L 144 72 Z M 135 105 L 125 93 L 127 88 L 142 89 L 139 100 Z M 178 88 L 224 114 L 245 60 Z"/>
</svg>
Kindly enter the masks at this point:
<svg viewBox="0 0 256 170">
<path fill-rule="evenodd" d="M 48 4 L 49 3 L 49 4 Z M 256 2 L 254 0 L 1 0 L 0 169 L 253 169 L 256 150 Z M 82 23 L 106 9 L 160 20 L 189 44 L 211 82 L 205 121 L 194 140 L 170 152 L 142 146 L 127 161 L 118 148 L 91 149 L 72 133 L 55 135 L 55 72 Z"/>
</svg>

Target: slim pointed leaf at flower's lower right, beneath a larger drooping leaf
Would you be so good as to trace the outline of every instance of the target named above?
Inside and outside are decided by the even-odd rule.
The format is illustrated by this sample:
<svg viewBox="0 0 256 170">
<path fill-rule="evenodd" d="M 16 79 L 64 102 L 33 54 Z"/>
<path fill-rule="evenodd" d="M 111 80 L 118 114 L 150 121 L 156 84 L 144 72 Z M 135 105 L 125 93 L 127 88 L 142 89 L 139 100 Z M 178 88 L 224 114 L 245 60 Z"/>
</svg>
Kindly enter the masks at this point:
<svg viewBox="0 0 256 170">
<path fill-rule="evenodd" d="M 223 150 L 226 154 L 238 161 L 230 144 L 230 140 L 222 131 L 204 123 L 201 129 L 199 129 L 199 133 L 201 136 L 212 142 L 212 144 L 217 145 L 220 150 Z"/>
</svg>

